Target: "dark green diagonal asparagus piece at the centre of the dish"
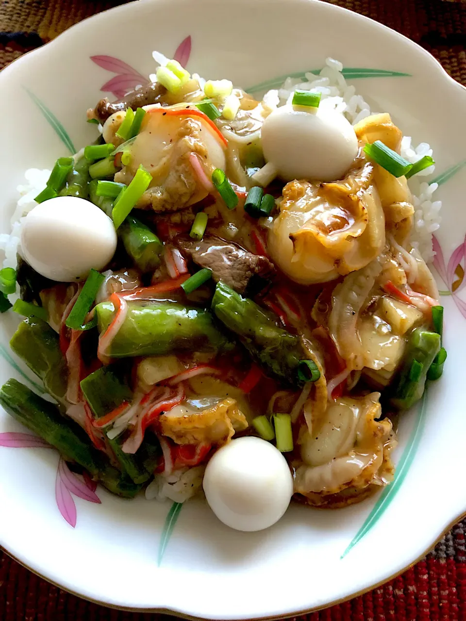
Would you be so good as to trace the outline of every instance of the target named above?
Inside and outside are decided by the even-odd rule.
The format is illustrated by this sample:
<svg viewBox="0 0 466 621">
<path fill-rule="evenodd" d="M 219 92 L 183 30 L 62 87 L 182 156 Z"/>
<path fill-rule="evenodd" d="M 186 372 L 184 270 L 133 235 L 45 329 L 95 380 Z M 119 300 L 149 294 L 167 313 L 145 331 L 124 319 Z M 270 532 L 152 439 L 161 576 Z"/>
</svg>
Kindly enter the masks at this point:
<svg viewBox="0 0 466 621">
<path fill-rule="evenodd" d="M 217 319 L 234 332 L 268 374 L 293 386 L 302 386 L 299 360 L 305 358 L 299 338 L 276 325 L 272 314 L 220 282 L 212 299 Z"/>
</svg>

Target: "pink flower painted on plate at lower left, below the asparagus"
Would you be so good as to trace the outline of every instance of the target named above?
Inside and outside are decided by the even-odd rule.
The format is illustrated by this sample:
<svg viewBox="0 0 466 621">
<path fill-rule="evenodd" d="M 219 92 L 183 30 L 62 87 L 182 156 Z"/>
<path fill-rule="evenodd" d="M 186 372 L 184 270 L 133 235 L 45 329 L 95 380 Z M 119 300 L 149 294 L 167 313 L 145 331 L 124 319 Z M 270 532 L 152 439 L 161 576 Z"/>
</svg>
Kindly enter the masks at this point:
<svg viewBox="0 0 466 621">
<path fill-rule="evenodd" d="M 0 446 L 7 448 L 53 448 L 37 435 L 20 432 L 0 433 Z M 84 472 L 80 476 L 71 472 L 66 461 L 60 457 L 55 481 L 55 498 L 60 513 L 73 528 L 76 526 L 76 505 L 71 494 L 85 501 L 101 504 L 95 493 L 96 488 L 97 483 L 90 478 L 88 473 Z"/>
</svg>

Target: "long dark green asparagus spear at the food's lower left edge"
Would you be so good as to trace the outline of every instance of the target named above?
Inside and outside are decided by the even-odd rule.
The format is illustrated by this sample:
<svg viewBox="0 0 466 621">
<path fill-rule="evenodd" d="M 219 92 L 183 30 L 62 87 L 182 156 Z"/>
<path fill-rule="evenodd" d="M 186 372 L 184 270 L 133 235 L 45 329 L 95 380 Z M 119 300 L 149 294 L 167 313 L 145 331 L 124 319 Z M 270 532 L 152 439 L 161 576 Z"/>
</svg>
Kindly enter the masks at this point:
<svg viewBox="0 0 466 621">
<path fill-rule="evenodd" d="M 9 379 L 0 389 L 0 404 L 14 419 L 55 446 L 66 461 L 85 468 L 112 493 L 130 498 L 141 489 L 110 465 L 78 424 L 16 379 Z"/>
</svg>

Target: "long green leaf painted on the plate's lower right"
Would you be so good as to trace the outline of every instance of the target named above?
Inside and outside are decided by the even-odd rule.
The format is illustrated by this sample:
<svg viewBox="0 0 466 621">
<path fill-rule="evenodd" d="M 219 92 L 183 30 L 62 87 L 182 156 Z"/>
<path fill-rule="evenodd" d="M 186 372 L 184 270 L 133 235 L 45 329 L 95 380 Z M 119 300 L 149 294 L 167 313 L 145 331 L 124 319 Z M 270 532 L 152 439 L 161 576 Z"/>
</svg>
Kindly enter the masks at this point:
<svg viewBox="0 0 466 621">
<path fill-rule="evenodd" d="M 385 509 L 390 505 L 391 501 L 396 496 L 396 493 L 400 489 L 403 484 L 404 478 L 406 474 L 408 474 L 409 466 L 413 463 L 414 456 L 416 455 L 416 451 L 418 450 L 419 441 L 421 440 L 421 436 L 423 435 L 424 422 L 426 420 L 426 404 L 427 404 L 427 389 L 424 391 L 423 398 L 421 400 L 421 406 L 418 407 L 418 412 L 416 412 L 416 421 L 414 422 L 414 428 L 411 432 L 411 437 L 409 437 L 408 445 L 403 451 L 403 455 L 401 455 L 400 463 L 396 466 L 395 478 L 390 483 L 390 485 L 385 487 L 385 490 L 382 492 L 380 498 L 375 504 L 375 507 L 372 509 L 367 519 L 365 520 L 362 527 L 356 533 L 354 539 L 350 543 L 350 545 L 346 548 L 344 553 L 340 556 L 340 559 L 344 558 L 347 553 L 370 531 L 370 529 L 377 524 L 380 517 L 385 512 Z"/>
</svg>

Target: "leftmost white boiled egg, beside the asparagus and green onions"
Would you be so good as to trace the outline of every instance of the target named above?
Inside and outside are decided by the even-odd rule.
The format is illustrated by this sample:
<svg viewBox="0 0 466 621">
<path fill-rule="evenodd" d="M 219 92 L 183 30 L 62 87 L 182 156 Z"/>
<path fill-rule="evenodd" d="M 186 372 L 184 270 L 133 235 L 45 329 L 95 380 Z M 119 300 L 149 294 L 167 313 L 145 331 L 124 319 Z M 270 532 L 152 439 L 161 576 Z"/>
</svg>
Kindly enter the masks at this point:
<svg viewBox="0 0 466 621">
<path fill-rule="evenodd" d="M 102 270 L 117 244 L 112 220 L 99 207 L 75 196 L 57 196 L 34 207 L 21 229 L 21 252 L 42 276 L 80 281 Z"/>
</svg>

